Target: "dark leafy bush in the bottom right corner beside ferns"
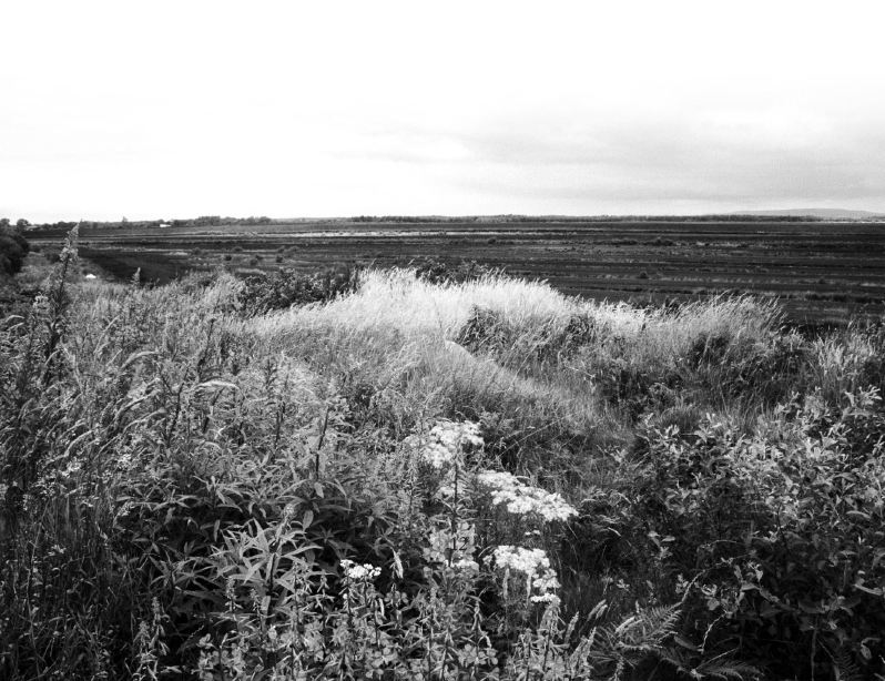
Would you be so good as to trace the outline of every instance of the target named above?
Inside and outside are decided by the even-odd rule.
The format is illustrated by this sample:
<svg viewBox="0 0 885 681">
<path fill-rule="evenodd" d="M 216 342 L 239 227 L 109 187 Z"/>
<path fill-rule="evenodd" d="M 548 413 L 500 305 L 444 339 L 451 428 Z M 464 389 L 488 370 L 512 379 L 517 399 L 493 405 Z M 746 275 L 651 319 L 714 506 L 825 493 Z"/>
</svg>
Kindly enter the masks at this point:
<svg viewBox="0 0 885 681">
<path fill-rule="evenodd" d="M 688 441 L 650 429 L 635 532 L 690 591 L 696 640 L 740 641 L 780 678 L 882 672 L 883 431 L 875 393 L 793 402 L 752 437 L 709 417 Z"/>
</svg>

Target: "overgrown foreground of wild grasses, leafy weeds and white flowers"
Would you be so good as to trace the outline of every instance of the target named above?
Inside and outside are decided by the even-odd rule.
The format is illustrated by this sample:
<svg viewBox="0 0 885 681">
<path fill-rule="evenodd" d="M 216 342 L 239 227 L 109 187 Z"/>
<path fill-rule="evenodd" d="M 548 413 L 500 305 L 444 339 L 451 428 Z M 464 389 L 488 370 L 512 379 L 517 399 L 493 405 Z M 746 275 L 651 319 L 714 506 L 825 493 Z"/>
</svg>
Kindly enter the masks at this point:
<svg viewBox="0 0 885 681">
<path fill-rule="evenodd" d="M 881 326 L 75 258 L 0 325 L 1 678 L 885 678 Z"/>
</svg>

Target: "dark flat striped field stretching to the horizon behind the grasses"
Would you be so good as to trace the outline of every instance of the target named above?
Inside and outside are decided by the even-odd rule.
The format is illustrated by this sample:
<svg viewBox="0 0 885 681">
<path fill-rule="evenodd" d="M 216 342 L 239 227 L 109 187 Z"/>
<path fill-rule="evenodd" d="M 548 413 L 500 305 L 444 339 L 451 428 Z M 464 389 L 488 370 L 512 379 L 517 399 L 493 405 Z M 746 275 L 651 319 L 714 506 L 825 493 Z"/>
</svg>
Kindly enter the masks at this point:
<svg viewBox="0 0 885 681">
<path fill-rule="evenodd" d="M 63 233 L 34 231 L 51 250 Z M 568 295 L 655 302 L 746 292 L 781 301 L 796 324 L 885 314 L 885 223 L 864 222 L 294 222 L 255 226 L 92 228 L 85 267 L 165 283 L 187 272 L 238 274 L 337 264 L 476 261 L 547 279 Z"/>
</svg>

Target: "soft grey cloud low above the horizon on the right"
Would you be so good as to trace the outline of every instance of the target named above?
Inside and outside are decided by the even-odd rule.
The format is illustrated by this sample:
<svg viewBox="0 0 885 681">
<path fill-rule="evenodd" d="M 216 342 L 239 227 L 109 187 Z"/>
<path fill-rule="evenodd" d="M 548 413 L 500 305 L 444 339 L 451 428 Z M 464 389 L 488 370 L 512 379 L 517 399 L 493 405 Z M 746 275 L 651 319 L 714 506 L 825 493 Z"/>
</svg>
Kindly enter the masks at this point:
<svg viewBox="0 0 885 681">
<path fill-rule="evenodd" d="M 461 189 L 576 205 L 866 202 L 885 209 L 885 131 L 813 112 L 682 112 L 658 120 L 496 121 L 461 138 Z M 874 205 L 875 204 L 875 205 Z"/>
</svg>

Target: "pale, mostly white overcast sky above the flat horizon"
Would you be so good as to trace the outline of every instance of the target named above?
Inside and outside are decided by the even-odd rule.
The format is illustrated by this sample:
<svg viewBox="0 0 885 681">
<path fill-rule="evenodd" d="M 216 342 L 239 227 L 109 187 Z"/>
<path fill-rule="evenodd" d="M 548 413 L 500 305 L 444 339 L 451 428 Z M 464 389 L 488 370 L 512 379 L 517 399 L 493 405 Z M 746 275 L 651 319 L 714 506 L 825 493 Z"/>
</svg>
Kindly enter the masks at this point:
<svg viewBox="0 0 885 681">
<path fill-rule="evenodd" d="M 885 212 L 881 2 L 0 3 L 0 217 Z"/>
</svg>

